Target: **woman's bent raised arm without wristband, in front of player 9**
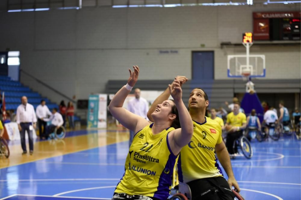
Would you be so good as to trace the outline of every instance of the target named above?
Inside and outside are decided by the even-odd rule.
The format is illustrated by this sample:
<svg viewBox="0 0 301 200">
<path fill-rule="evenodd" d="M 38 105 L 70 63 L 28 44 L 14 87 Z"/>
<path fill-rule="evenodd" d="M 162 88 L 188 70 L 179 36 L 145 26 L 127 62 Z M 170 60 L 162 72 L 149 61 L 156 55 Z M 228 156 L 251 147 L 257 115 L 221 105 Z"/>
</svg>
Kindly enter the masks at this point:
<svg viewBox="0 0 301 200">
<path fill-rule="evenodd" d="M 177 155 L 180 153 L 182 147 L 188 144 L 193 134 L 193 124 L 191 116 L 182 100 L 182 88 L 180 81 L 175 79 L 172 85 L 168 85 L 169 92 L 174 99 L 175 105 L 178 109 L 181 128 L 173 130 L 169 137 L 169 145 L 172 152 Z"/>
</svg>

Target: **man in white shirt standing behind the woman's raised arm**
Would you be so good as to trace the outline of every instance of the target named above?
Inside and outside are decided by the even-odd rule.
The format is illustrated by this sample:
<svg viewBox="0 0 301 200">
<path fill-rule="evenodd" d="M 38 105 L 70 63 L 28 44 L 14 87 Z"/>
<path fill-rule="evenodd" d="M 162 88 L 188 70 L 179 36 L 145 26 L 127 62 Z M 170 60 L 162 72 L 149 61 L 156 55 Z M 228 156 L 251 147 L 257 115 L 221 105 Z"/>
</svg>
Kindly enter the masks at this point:
<svg viewBox="0 0 301 200">
<path fill-rule="evenodd" d="M 146 120 L 147 118 L 147 111 L 148 111 L 148 103 L 147 100 L 140 97 L 140 89 L 136 88 L 135 89 L 135 98 L 129 100 L 128 103 L 128 110 L 136 115 L 139 115 Z M 132 140 L 134 137 L 134 131 L 130 130 L 130 140 L 129 140 L 129 146 L 132 144 Z"/>
</svg>

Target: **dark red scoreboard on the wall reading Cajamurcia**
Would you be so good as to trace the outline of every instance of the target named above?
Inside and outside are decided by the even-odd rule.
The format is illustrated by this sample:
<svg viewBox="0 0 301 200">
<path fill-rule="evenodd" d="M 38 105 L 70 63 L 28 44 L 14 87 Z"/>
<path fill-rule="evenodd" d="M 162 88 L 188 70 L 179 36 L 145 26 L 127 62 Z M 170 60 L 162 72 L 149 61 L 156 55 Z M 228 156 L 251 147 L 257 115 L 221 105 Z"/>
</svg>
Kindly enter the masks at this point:
<svg viewBox="0 0 301 200">
<path fill-rule="evenodd" d="M 300 11 L 253 12 L 254 40 L 300 40 Z"/>
</svg>

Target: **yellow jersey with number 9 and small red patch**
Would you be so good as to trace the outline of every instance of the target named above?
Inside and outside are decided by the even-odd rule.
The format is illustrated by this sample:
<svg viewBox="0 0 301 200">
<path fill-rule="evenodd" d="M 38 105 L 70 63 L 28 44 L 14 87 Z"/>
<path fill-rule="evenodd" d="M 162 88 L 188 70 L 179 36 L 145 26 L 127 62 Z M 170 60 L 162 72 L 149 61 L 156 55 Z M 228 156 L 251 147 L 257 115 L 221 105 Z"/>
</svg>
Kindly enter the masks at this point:
<svg viewBox="0 0 301 200">
<path fill-rule="evenodd" d="M 178 159 L 179 181 L 187 183 L 222 176 L 222 169 L 215 156 L 215 145 L 222 142 L 222 127 L 205 117 L 202 124 L 193 121 L 193 128 L 191 141 L 182 148 Z"/>
</svg>

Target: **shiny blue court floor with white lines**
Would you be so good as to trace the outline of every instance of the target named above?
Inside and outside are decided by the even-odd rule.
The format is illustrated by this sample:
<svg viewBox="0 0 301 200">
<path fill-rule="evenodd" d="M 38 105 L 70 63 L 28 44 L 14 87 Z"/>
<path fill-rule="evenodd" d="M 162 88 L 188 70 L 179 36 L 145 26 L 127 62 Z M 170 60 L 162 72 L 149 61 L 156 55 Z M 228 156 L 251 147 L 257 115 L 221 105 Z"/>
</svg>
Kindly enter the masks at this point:
<svg viewBox="0 0 301 200">
<path fill-rule="evenodd" d="M 251 144 L 250 160 L 231 160 L 242 196 L 300 200 L 300 141 L 284 137 Z M 111 199 L 127 153 L 128 142 L 119 142 L 0 169 L 0 200 Z"/>
</svg>

